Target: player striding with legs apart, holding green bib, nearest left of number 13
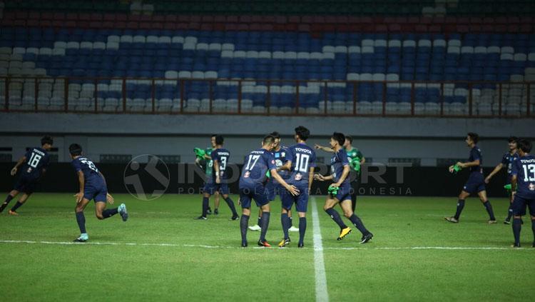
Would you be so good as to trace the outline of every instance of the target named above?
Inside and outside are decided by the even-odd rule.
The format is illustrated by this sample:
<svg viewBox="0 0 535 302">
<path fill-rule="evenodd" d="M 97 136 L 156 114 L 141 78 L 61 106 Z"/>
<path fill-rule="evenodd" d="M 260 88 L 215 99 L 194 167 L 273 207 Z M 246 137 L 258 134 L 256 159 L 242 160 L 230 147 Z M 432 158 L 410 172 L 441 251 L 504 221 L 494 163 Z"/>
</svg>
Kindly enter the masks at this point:
<svg viewBox="0 0 535 302">
<path fill-rule="evenodd" d="M 481 156 L 481 149 L 476 145 L 479 141 L 479 136 L 470 132 L 467 134 L 467 138 L 464 140 L 470 149 L 470 156 L 466 163 L 458 162 L 455 166 L 460 168 L 470 168 L 470 176 L 467 183 L 464 184 L 461 193 L 459 194 L 459 201 L 457 202 L 457 212 L 452 217 L 444 217 L 449 222 L 458 223 L 461 216 L 462 209 L 464 208 L 464 200 L 470 196 L 470 194 L 477 193 L 481 203 L 486 208 L 486 212 L 489 213 L 489 223 L 496 223 L 494 218 L 494 212 L 488 198 L 486 198 L 485 181 L 483 176 L 483 157 Z M 455 166 L 449 166 L 449 172 L 453 173 Z"/>
</svg>

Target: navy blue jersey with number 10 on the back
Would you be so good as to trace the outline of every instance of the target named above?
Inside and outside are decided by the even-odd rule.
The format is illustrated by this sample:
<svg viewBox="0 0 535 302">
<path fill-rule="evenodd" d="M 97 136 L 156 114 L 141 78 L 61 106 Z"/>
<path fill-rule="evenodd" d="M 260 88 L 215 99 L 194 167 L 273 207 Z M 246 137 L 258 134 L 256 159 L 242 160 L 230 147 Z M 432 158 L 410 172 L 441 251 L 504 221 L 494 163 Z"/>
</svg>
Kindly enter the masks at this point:
<svg viewBox="0 0 535 302">
<path fill-rule="evenodd" d="M 300 188 L 308 188 L 308 173 L 316 166 L 316 152 L 306 144 L 295 144 L 288 148 L 288 158 L 292 161 L 291 176 L 288 183 Z M 346 158 L 347 159 L 347 158 Z"/>
</svg>

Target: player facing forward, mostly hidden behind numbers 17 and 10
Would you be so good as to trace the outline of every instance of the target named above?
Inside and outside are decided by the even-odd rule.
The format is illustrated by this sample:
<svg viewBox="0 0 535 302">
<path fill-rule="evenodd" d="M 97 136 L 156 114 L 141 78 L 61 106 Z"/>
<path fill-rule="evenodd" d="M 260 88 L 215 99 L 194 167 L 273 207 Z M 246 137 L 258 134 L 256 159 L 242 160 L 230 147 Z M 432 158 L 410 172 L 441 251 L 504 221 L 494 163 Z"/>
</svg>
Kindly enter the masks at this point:
<svg viewBox="0 0 535 302">
<path fill-rule="evenodd" d="M 288 154 L 288 149 L 285 146 L 281 146 L 280 134 L 277 131 L 272 132 L 270 136 L 275 137 L 275 149 L 273 149 L 272 153 L 273 153 L 273 156 L 275 157 L 275 165 L 277 166 L 277 172 L 279 172 L 279 175 L 280 177 L 282 177 L 282 179 L 287 181 L 287 179 L 290 177 L 290 174 L 288 171 L 281 170 L 281 167 L 287 161 L 286 158 Z M 282 193 L 284 193 L 285 188 L 282 188 L 282 186 L 280 186 L 280 183 L 277 183 L 275 179 L 270 177 L 267 179 L 267 184 L 265 187 L 268 192 L 267 199 L 269 201 L 274 201 L 275 196 L 277 195 L 280 197 L 280 200 L 282 201 Z M 282 211 L 284 211 L 284 209 L 282 209 Z M 288 228 L 288 231 L 298 232 L 299 228 L 292 226 L 292 211 L 291 210 L 287 211 L 287 216 L 288 218 L 290 218 L 290 228 Z M 258 209 L 258 223 L 255 226 L 249 226 L 249 229 L 251 231 L 260 231 L 260 218 L 262 218 L 262 208 Z"/>
</svg>

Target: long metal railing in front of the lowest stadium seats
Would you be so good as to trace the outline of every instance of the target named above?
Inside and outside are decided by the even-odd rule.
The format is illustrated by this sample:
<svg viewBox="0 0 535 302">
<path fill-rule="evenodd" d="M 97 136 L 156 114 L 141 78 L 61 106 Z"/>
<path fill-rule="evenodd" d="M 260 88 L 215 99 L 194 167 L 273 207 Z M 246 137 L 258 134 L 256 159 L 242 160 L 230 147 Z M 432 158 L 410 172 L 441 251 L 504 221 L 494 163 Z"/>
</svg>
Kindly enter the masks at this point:
<svg viewBox="0 0 535 302">
<path fill-rule="evenodd" d="M 0 110 L 533 117 L 535 82 L 0 77 Z"/>
</svg>

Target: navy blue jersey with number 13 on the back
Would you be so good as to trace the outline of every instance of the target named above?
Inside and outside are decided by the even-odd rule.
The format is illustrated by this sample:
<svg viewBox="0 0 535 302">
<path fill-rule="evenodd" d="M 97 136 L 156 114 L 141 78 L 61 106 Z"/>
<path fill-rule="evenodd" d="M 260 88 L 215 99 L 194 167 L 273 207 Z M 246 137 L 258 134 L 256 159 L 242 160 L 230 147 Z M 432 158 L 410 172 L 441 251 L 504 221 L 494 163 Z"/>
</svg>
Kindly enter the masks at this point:
<svg viewBox="0 0 535 302">
<path fill-rule="evenodd" d="M 535 156 L 522 156 L 514 161 L 511 171 L 516 175 L 516 196 L 535 198 Z"/>
</svg>

